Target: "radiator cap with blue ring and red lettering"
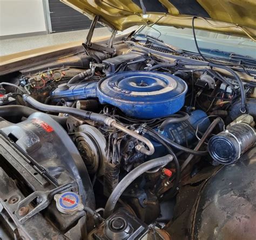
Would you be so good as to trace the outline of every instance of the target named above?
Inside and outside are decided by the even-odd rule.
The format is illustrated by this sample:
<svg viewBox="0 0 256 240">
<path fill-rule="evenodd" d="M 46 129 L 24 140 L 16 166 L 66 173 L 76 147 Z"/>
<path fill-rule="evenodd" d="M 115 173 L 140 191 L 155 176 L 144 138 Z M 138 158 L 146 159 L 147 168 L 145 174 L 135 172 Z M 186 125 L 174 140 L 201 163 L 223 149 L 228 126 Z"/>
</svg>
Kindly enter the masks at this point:
<svg viewBox="0 0 256 240">
<path fill-rule="evenodd" d="M 82 211 L 84 209 L 81 197 L 72 191 L 56 194 L 54 200 L 56 201 L 57 209 L 63 214 L 71 214 L 75 211 Z"/>
</svg>

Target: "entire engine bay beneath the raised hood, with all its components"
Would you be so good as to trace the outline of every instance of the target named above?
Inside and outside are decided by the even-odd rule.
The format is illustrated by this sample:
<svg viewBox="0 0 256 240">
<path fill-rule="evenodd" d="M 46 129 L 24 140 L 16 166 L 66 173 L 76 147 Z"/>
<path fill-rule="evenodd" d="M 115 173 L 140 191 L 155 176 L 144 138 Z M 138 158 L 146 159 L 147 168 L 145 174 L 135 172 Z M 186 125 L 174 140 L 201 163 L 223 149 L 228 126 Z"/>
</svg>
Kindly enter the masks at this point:
<svg viewBox="0 0 256 240">
<path fill-rule="evenodd" d="M 82 48 L 0 77 L 6 236 L 205 239 L 215 191 L 255 203 L 255 61 L 132 36 Z"/>
</svg>

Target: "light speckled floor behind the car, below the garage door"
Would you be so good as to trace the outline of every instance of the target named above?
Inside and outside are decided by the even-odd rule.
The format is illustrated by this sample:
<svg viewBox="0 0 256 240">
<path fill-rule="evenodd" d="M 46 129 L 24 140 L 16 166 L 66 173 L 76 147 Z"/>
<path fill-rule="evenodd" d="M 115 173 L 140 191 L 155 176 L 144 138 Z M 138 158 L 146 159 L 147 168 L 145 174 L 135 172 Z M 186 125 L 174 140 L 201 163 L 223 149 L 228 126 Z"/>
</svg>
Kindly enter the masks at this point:
<svg viewBox="0 0 256 240">
<path fill-rule="evenodd" d="M 0 40 L 0 56 L 37 49 L 38 47 L 70 43 L 78 40 L 85 40 L 89 30 L 79 30 L 72 32 L 51 33 L 33 37 L 21 37 Z M 93 37 L 107 36 L 111 32 L 107 28 L 95 29 Z"/>
</svg>

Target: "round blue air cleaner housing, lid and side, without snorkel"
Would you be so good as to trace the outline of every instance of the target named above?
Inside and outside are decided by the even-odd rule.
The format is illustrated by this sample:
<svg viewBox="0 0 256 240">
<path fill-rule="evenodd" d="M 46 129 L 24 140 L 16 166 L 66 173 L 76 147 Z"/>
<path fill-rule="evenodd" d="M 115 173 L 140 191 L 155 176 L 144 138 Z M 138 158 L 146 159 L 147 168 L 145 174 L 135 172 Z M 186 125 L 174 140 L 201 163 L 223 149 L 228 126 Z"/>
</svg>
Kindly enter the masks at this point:
<svg viewBox="0 0 256 240">
<path fill-rule="evenodd" d="M 99 81 L 97 97 L 125 114 L 152 119 L 176 113 L 184 105 L 187 84 L 168 73 L 128 71 Z"/>
</svg>

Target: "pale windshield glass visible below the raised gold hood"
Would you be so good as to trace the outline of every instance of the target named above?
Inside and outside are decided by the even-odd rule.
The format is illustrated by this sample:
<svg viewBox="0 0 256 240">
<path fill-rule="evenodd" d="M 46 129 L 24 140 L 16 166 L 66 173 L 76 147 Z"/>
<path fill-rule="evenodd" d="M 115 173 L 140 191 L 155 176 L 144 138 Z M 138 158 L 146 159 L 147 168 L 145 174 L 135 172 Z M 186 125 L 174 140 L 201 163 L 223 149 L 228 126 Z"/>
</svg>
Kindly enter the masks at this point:
<svg viewBox="0 0 256 240">
<path fill-rule="evenodd" d="M 142 35 L 148 35 L 158 40 L 163 40 L 166 44 L 198 53 L 192 29 L 178 29 L 173 26 L 161 25 L 145 26 L 134 37 L 140 39 L 143 38 Z M 196 30 L 196 36 L 199 48 L 203 52 L 211 49 L 256 58 L 256 43 L 251 39 L 204 30 Z M 208 51 L 206 52 L 209 54 Z"/>
</svg>

